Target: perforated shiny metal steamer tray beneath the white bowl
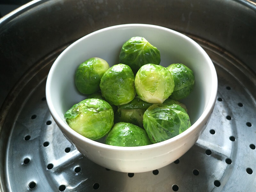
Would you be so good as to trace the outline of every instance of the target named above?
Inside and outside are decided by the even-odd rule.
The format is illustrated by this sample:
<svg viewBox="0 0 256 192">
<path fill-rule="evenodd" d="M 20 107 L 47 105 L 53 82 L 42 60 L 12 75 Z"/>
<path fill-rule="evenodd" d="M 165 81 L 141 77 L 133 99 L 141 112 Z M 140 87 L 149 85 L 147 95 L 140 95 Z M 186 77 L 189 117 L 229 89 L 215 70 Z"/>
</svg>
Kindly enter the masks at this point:
<svg viewBox="0 0 256 192">
<path fill-rule="evenodd" d="M 227 52 L 196 41 L 214 62 L 219 88 L 208 126 L 184 156 L 134 174 L 108 170 L 82 156 L 54 123 L 45 100 L 46 76 L 57 51 L 26 74 L 4 112 L 10 123 L 3 129 L 11 130 L 5 154 L 8 190 L 255 191 L 256 76 Z"/>
</svg>

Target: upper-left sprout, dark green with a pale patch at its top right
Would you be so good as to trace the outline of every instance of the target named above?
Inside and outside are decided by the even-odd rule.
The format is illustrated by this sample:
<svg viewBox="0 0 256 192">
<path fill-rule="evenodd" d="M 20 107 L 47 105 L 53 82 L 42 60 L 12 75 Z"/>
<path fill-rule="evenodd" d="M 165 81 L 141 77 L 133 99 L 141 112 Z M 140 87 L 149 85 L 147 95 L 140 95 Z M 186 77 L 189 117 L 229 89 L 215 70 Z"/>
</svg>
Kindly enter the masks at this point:
<svg viewBox="0 0 256 192">
<path fill-rule="evenodd" d="M 91 94 L 100 90 L 100 79 L 109 69 L 107 61 L 93 57 L 81 63 L 76 69 L 75 84 L 79 92 Z"/>
</svg>

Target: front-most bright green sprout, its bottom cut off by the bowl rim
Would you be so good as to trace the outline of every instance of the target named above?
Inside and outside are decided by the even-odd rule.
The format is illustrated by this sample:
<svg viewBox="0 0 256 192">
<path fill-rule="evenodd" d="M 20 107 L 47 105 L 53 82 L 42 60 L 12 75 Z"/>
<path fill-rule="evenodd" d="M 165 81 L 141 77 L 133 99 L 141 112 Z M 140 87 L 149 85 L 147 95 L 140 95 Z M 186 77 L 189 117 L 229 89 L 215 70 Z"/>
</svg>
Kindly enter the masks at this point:
<svg viewBox="0 0 256 192">
<path fill-rule="evenodd" d="M 121 147 L 137 147 L 152 144 L 144 129 L 131 123 L 114 124 L 106 137 L 105 144 Z"/>
</svg>

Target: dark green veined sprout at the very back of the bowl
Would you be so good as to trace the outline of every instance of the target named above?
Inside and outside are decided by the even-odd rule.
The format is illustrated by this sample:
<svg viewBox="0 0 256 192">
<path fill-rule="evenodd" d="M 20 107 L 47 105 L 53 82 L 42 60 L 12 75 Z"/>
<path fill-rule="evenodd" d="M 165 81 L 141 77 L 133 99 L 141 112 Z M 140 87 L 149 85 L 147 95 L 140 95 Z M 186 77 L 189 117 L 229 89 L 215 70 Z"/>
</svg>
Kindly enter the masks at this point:
<svg viewBox="0 0 256 192">
<path fill-rule="evenodd" d="M 129 65 L 134 74 L 142 65 L 154 63 L 159 65 L 161 58 L 159 50 L 144 37 L 132 37 L 122 46 L 119 54 L 120 63 Z"/>
</svg>

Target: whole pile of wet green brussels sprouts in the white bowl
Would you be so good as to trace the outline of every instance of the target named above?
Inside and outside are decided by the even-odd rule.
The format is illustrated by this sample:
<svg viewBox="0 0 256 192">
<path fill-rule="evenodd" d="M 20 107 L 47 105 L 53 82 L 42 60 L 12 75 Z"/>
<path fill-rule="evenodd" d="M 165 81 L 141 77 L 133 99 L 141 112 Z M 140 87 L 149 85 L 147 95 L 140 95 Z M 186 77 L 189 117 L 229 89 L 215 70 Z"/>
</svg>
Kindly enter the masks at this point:
<svg viewBox="0 0 256 192">
<path fill-rule="evenodd" d="M 194 74 L 181 63 L 160 65 L 160 52 L 143 37 L 122 46 L 120 63 L 93 57 L 76 69 L 84 100 L 64 115 L 68 125 L 91 140 L 114 146 L 143 146 L 170 139 L 191 126 L 179 100 L 194 87 Z"/>
</svg>

